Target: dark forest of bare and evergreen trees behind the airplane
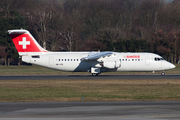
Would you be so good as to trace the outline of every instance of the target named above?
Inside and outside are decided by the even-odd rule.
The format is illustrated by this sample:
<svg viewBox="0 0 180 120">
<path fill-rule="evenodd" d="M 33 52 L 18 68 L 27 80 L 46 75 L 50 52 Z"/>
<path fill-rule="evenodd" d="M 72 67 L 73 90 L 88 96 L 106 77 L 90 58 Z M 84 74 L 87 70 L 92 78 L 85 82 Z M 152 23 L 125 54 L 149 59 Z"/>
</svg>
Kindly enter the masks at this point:
<svg viewBox="0 0 180 120">
<path fill-rule="evenodd" d="M 1 65 L 20 64 L 10 29 L 49 51 L 152 52 L 180 58 L 179 0 L 1 0 Z"/>
</svg>

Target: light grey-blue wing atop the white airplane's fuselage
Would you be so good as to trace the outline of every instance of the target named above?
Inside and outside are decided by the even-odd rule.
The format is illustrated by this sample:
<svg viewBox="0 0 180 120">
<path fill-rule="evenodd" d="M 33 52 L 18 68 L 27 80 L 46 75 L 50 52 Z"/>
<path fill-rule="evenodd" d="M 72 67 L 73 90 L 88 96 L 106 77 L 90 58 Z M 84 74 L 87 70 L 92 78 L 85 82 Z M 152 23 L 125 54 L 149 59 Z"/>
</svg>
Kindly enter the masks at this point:
<svg viewBox="0 0 180 120">
<path fill-rule="evenodd" d="M 112 52 L 91 52 L 87 57 L 82 58 L 82 60 L 97 60 L 101 57 L 106 57 L 112 55 Z"/>
</svg>

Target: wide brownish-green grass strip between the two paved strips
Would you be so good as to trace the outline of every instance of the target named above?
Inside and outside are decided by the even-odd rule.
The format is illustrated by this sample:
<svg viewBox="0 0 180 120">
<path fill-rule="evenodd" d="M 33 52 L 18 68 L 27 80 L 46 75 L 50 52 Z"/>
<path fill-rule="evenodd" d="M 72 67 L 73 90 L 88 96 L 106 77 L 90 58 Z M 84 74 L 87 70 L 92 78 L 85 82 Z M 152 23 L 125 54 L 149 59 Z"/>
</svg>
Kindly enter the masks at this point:
<svg viewBox="0 0 180 120">
<path fill-rule="evenodd" d="M 1 81 L 0 102 L 180 100 L 179 80 Z"/>
</svg>

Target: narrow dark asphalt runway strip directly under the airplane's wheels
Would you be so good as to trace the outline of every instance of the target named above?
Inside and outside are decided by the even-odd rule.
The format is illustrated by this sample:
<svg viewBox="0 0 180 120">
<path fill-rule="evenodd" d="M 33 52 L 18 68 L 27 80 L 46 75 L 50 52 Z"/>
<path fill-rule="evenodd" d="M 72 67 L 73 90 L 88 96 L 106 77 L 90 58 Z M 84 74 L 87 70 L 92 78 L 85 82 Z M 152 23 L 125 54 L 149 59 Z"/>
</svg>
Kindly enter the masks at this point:
<svg viewBox="0 0 180 120">
<path fill-rule="evenodd" d="M 174 75 L 1 75 L 0 80 L 64 80 L 64 79 L 180 79 Z"/>
</svg>

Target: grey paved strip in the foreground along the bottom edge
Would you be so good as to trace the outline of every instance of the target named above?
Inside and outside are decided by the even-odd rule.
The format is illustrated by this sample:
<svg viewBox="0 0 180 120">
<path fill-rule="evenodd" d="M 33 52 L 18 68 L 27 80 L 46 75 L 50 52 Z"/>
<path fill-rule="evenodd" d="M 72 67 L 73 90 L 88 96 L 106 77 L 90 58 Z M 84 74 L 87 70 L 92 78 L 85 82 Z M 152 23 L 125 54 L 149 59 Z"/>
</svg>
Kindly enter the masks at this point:
<svg viewBox="0 0 180 120">
<path fill-rule="evenodd" d="M 179 101 L 0 103 L 0 120 L 179 120 Z"/>
</svg>

